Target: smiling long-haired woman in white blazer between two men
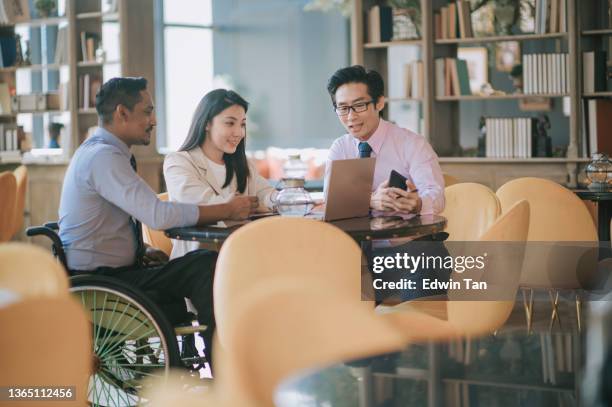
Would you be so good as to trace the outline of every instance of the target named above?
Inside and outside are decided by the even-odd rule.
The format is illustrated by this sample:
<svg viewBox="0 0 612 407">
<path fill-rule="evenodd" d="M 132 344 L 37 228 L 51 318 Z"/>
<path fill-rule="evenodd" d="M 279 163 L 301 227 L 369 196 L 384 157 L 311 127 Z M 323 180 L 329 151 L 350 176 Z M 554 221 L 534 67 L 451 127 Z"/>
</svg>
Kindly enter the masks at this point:
<svg viewBox="0 0 612 407">
<path fill-rule="evenodd" d="M 231 90 L 207 93 L 194 113 L 187 139 L 164 160 L 170 200 L 198 205 L 229 201 L 235 194 L 256 196 L 272 208 L 275 190 L 245 154 L 248 102 Z M 200 247 L 174 240 L 171 258 Z"/>
</svg>

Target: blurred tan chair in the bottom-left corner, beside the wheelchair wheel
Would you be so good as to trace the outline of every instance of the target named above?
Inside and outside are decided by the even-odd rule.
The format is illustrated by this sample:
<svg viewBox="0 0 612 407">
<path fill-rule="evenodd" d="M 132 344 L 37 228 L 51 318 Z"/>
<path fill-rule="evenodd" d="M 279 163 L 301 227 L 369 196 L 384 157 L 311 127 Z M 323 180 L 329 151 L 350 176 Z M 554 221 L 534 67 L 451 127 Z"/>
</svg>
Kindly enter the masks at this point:
<svg viewBox="0 0 612 407">
<path fill-rule="evenodd" d="M 51 405 L 87 406 L 92 372 L 90 323 L 72 298 L 39 298 L 0 308 L 0 383 L 10 387 L 72 387 L 75 400 Z M 16 403 L 38 406 L 38 401 Z"/>
</svg>

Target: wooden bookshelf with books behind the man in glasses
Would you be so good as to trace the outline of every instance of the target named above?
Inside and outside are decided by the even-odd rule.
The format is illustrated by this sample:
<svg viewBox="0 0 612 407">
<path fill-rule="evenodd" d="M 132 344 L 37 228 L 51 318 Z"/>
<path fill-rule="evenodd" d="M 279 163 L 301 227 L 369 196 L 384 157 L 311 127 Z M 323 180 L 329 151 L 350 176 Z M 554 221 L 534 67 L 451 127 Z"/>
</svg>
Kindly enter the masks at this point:
<svg viewBox="0 0 612 407">
<path fill-rule="evenodd" d="M 404 127 L 427 137 L 438 153 L 444 171 L 457 176 L 461 180 L 481 182 L 492 188 L 497 188 L 508 179 L 520 176 L 541 176 L 560 183 L 576 185 L 579 170 L 588 162 L 587 155 L 582 150 L 584 138 L 581 120 L 582 98 L 612 96 L 612 92 L 607 91 L 581 94 L 582 75 L 580 74 L 580 58 L 578 58 L 581 55 L 581 43 L 583 42 L 581 38 L 603 42 L 609 34 L 612 34 L 612 26 L 581 27 L 578 21 L 578 9 L 588 8 L 590 2 L 582 0 L 565 1 L 565 9 L 563 10 L 567 17 L 565 26 L 561 25 L 561 17 L 559 17 L 556 30 L 551 29 L 549 20 L 546 28 L 540 28 L 539 31 L 536 27 L 531 32 L 523 32 L 517 28 L 518 25 L 515 25 L 512 27 L 511 33 L 494 30 L 490 33 L 477 32 L 475 36 L 464 35 L 462 38 L 459 33 L 459 23 L 457 23 L 457 38 L 439 38 L 439 31 L 436 32 L 436 19 L 438 18 L 436 14 L 440 13 L 441 8 L 448 6 L 450 2 L 447 0 L 421 0 L 422 19 L 419 39 L 369 43 L 368 11 L 376 5 L 384 4 L 384 2 L 355 0 L 351 16 L 352 63 L 365 65 L 383 75 L 388 106 L 385 109 L 387 119 L 394 120 L 402 125 L 400 121 L 395 120 L 390 115 L 392 104 L 416 105 L 412 109 L 418 111 L 419 122 L 412 127 Z M 558 4 L 559 7 L 562 7 L 560 2 Z M 566 81 L 564 83 L 565 89 L 561 87 L 559 89 L 566 91 L 558 91 L 557 89 L 553 91 L 551 88 L 547 89 L 549 90 L 547 92 L 513 93 L 513 86 L 508 86 L 509 79 L 502 78 L 507 82 L 498 80 L 501 74 L 496 70 L 495 54 L 493 53 L 498 45 L 508 41 L 519 44 L 519 60 L 515 62 L 519 64 L 523 63 L 522 56 L 526 54 L 567 54 L 567 63 L 564 64 L 565 74 L 559 73 L 559 76 L 562 75 Z M 416 58 L 421 60 L 424 66 L 424 89 L 421 98 L 401 97 L 397 94 L 397 83 L 401 84 L 402 81 L 398 80 L 397 77 L 394 78 L 394 75 L 397 75 L 398 72 L 396 66 L 398 59 L 393 59 L 392 54 L 396 49 L 406 47 L 415 49 Z M 461 49 L 482 47 L 489 50 L 487 71 L 489 75 L 497 75 L 497 77 L 493 77 L 493 81 L 489 77 L 488 82 L 493 85 L 495 90 L 501 92 L 494 92 L 489 95 L 473 93 L 438 95 L 436 93 L 436 59 L 457 58 L 460 47 Z M 410 62 L 412 61 L 400 60 L 399 63 Z M 557 64 L 557 62 L 554 63 Z M 554 69 L 557 69 L 557 66 L 559 65 L 554 65 Z M 496 80 L 499 83 L 496 83 Z M 549 106 L 552 106 L 549 108 L 550 111 L 546 109 L 542 111 L 523 111 L 523 106 L 519 110 L 519 104 L 526 105 L 542 98 L 548 101 Z M 553 134 L 553 140 L 556 140 L 554 143 L 554 146 L 557 147 L 557 151 L 554 152 L 556 155 L 554 157 L 527 159 L 474 156 L 477 154 L 474 151 L 477 148 L 474 148 L 473 143 L 479 135 L 477 134 L 479 129 L 472 116 L 477 112 L 482 112 L 483 116 L 496 117 L 496 115 L 499 115 L 499 117 L 525 118 L 533 118 L 540 113 L 547 114 L 552 124 L 549 135 Z M 507 116 L 507 114 L 512 114 L 512 116 Z M 440 120 L 441 117 L 444 120 Z M 467 119 L 470 120 L 466 122 Z M 533 125 L 535 126 L 535 122 Z M 472 144 L 464 146 L 466 140 L 471 141 Z"/>
</svg>

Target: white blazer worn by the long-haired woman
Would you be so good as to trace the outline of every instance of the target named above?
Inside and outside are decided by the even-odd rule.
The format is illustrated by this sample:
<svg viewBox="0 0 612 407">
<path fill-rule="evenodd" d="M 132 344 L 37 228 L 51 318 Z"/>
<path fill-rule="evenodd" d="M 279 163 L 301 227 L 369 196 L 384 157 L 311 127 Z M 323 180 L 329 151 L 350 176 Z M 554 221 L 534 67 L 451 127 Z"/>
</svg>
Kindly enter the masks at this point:
<svg viewBox="0 0 612 407">
<path fill-rule="evenodd" d="M 249 161 L 250 176 L 247 179 L 245 195 L 257 196 L 260 206 L 272 208 L 272 194 L 275 189 L 268 181 L 259 175 L 255 165 Z M 213 205 L 225 203 L 228 197 L 221 194 L 221 185 L 217 182 L 201 148 L 189 151 L 170 153 L 164 160 L 164 178 L 168 189 L 168 198 L 171 201 L 192 203 L 197 205 Z M 236 177 L 228 186 L 232 192 L 238 188 Z M 172 254 L 174 259 L 200 248 L 198 242 L 185 240 L 172 241 Z"/>
</svg>

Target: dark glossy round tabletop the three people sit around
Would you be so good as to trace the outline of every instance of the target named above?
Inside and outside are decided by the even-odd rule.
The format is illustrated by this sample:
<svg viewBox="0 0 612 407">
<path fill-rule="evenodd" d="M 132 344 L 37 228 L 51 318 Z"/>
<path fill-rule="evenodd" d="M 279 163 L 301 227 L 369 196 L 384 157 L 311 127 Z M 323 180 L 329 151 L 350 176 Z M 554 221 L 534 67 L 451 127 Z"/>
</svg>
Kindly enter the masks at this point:
<svg viewBox="0 0 612 407">
<path fill-rule="evenodd" d="M 233 232 L 250 221 L 229 226 L 190 226 L 166 230 L 171 239 L 198 241 L 202 243 L 221 244 Z M 363 217 L 329 222 L 342 229 L 357 242 L 378 239 L 421 238 L 442 232 L 446 227 L 446 218 L 442 216 L 413 216 L 409 219 L 400 217 Z"/>
</svg>

